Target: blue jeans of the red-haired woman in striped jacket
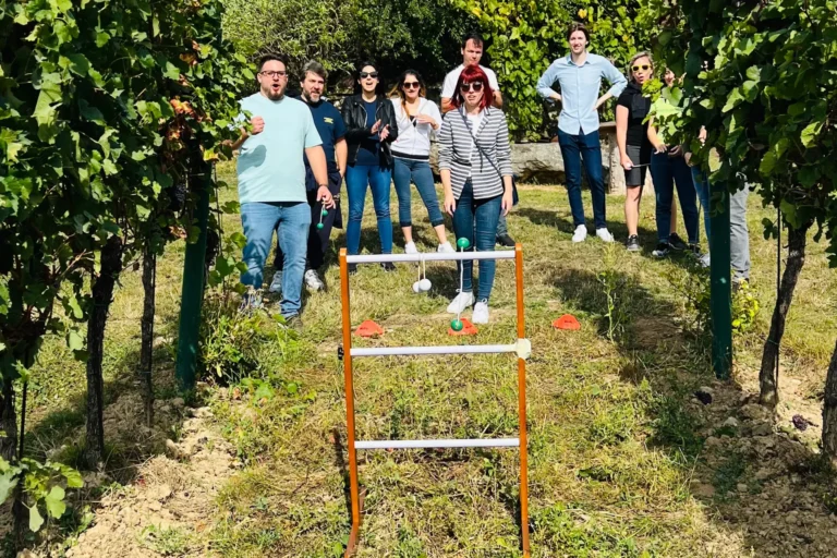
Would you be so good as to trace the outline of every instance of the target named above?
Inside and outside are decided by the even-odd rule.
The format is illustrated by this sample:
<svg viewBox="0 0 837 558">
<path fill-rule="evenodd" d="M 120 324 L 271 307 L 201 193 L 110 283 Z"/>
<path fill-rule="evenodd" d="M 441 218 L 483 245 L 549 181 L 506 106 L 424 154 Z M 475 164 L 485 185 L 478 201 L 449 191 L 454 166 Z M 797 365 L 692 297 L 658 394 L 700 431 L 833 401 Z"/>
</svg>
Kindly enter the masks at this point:
<svg viewBox="0 0 837 558">
<path fill-rule="evenodd" d="M 500 217 L 502 196 L 474 199 L 474 190 L 471 180 L 462 187 L 462 195 L 457 201 L 457 210 L 453 211 L 453 232 L 457 239 L 465 238 L 470 241 L 473 251 L 490 252 L 494 250 L 497 238 L 497 220 Z M 461 267 L 460 267 L 461 266 Z M 478 299 L 488 302 L 494 287 L 494 271 L 497 264 L 493 259 L 480 260 L 480 289 Z M 471 259 L 457 263 L 457 271 L 462 271 L 462 292 L 473 291 L 474 262 Z"/>
</svg>

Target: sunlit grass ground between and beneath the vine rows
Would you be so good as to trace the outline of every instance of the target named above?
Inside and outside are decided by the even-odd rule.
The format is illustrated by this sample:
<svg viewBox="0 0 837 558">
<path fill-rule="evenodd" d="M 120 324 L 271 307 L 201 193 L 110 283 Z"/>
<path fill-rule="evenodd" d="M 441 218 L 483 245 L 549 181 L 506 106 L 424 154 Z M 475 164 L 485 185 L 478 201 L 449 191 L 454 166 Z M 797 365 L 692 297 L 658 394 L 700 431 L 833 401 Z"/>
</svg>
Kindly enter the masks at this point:
<svg viewBox="0 0 837 558">
<path fill-rule="evenodd" d="M 220 174 L 234 184 L 231 167 L 223 167 Z M 629 254 L 621 244 L 627 236 L 622 197 L 608 197 L 610 230 L 620 243 L 606 245 L 595 238 L 582 244 L 570 241 L 572 226 L 562 187 L 523 185 L 520 195 L 521 206 L 510 215 L 509 228 L 524 246 L 526 335 L 533 347 L 527 365 L 533 556 L 762 556 L 771 554 L 774 544 L 783 556 L 805 556 L 806 549 L 821 544 L 833 548 L 837 537 L 828 538 L 826 527 L 837 524 L 829 523 L 833 515 L 821 498 L 832 494 L 830 481 L 814 478 L 812 469 L 811 476 L 783 471 L 776 478 L 759 478 L 764 457 L 738 451 L 755 447 L 742 441 L 751 435 L 743 427 L 748 417 L 740 415 L 745 404 L 741 393 L 755 389 L 775 300 L 776 243 L 763 239 L 761 225 L 774 213 L 762 209 L 759 197 L 751 196 L 752 279 L 762 312 L 751 331 L 736 337 L 733 379 L 721 385 L 713 384 L 705 336 L 684 332 L 691 316 L 677 286 L 690 272 L 689 257 L 658 260 L 651 255 L 656 242 L 653 199 L 642 206 L 643 250 Z M 234 197 L 233 190 L 221 193 L 222 202 Z M 417 244 L 422 251 L 435 250 L 417 197 L 413 205 Z M 590 211 L 587 193 L 584 199 Z M 396 204 L 392 195 L 393 216 Z M 364 227 L 362 246 L 377 252 L 368 199 Z M 227 218 L 225 230 L 240 230 L 238 217 Z M 335 248 L 344 244 L 343 232 L 338 232 L 332 234 Z M 397 230 L 396 251 L 402 245 Z M 837 335 L 837 274 L 827 268 L 821 246 L 812 245 L 809 253 L 784 343 L 783 386 L 788 391 L 783 393 L 780 414 L 815 413 L 820 408 L 817 398 Z M 182 245 L 172 246 L 157 278 L 156 381 L 163 399 L 174 395 L 171 375 L 182 255 Z M 615 286 L 615 324 L 605 317 L 603 272 Z M 266 282 L 271 274 L 266 272 Z M 511 263 L 497 264 L 492 323 L 466 341 L 447 336 L 450 316 L 445 308 L 459 280 L 453 264 L 427 266 L 433 281 L 428 294 L 412 292 L 416 277 L 416 266 L 407 264 L 393 274 L 362 266 L 352 277 L 353 326 L 374 319 L 386 330 L 381 339 L 359 340 L 359 345 L 509 343 L 515 338 Z M 240 338 L 248 345 L 264 341 L 264 347 L 253 349 L 259 355 L 254 376 L 271 386 L 272 397 L 247 396 L 253 384 L 240 389 L 210 387 L 205 396 L 217 427 L 244 463 L 221 490 L 213 529 L 202 535 L 206 553 L 342 556 L 350 517 L 335 265 L 325 279 L 328 290 L 305 300 L 305 328 L 298 342 L 292 336 L 268 336 L 264 341 L 258 331 Z M 276 305 L 270 308 L 278 312 Z M 580 331 L 551 327 L 551 320 L 565 313 L 579 318 Z M 107 330 L 111 401 L 135 389 L 141 314 L 140 272 L 130 271 Z M 509 355 L 362 359 L 354 364 L 359 439 L 517 435 L 517 367 Z M 33 377 L 28 447 L 33 453 L 45 453 L 83 424 L 84 369 L 60 340 L 50 340 Z M 693 398 L 701 386 L 712 386 L 715 403 L 703 408 Z M 244 393 L 241 398 L 239 391 Z M 730 415 L 740 416 L 742 427 L 719 433 Z M 815 414 L 809 417 L 820 422 Z M 808 437 L 792 432 L 776 436 L 798 446 L 800 462 L 813 463 L 818 432 L 811 428 Z M 128 466 L 155 451 L 159 448 L 119 442 L 113 459 Z M 359 556 L 520 556 L 515 450 L 359 456 L 366 492 Z M 822 536 L 810 535 L 813 546 L 783 547 L 771 533 L 762 535 L 755 523 L 742 520 L 756 495 L 767 504 L 774 497 L 778 501 L 783 496 L 774 492 L 791 474 L 808 480 L 804 490 L 818 502 L 808 511 L 822 520 L 825 531 Z"/>
</svg>

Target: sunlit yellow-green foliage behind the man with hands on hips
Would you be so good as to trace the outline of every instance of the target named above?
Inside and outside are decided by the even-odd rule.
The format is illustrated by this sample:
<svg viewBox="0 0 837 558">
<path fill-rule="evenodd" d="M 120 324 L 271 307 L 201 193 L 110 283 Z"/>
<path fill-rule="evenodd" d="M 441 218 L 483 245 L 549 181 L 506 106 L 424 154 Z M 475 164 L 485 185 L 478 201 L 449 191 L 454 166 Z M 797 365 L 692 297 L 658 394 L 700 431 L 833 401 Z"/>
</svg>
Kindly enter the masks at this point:
<svg viewBox="0 0 837 558">
<path fill-rule="evenodd" d="M 573 21 L 592 34 L 591 52 L 626 69 L 631 56 L 650 44 L 651 26 L 644 8 L 631 0 L 456 0 L 480 21 L 492 41 L 488 54 L 497 72 L 509 113 L 509 129 L 518 138 L 553 135 L 555 122 L 535 85 L 556 58 L 569 52 L 566 32 Z M 606 116 L 607 118 L 607 116 Z"/>
</svg>

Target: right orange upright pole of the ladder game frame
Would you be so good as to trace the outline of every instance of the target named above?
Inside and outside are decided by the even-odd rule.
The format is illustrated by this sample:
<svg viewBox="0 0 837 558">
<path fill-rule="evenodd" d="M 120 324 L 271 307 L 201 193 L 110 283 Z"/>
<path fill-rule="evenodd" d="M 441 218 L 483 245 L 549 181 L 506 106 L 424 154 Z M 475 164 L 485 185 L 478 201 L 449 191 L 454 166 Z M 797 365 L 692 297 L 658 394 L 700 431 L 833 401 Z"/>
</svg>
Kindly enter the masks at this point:
<svg viewBox="0 0 837 558">
<path fill-rule="evenodd" d="M 514 246 L 514 283 L 518 291 L 518 339 L 525 339 L 523 307 L 523 246 Z M 529 437 L 526 434 L 526 361 L 518 359 L 518 415 L 520 420 L 520 526 L 523 556 L 529 558 Z"/>
</svg>

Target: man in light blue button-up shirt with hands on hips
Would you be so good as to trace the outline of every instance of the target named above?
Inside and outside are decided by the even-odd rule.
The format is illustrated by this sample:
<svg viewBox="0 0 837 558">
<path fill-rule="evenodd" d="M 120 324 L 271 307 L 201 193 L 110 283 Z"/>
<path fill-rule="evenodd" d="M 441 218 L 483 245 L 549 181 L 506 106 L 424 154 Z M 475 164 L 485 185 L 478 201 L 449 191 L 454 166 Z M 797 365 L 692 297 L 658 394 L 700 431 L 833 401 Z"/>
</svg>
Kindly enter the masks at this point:
<svg viewBox="0 0 837 558">
<path fill-rule="evenodd" d="M 583 161 L 593 197 L 596 235 L 605 242 L 612 242 L 614 235 L 607 230 L 605 218 L 605 180 L 602 173 L 602 146 L 598 140 L 598 108 L 609 98 L 618 97 L 628 85 L 628 81 L 607 59 L 587 52 L 590 32 L 584 25 L 573 24 L 567 38 L 570 43 L 570 53 L 549 65 L 537 81 L 537 93 L 547 99 L 561 102 L 561 113 L 558 117 L 558 144 L 563 156 L 567 194 L 575 227 L 572 241 L 583 242 L 587 238 L 584 205 L 581 201 Z M 599 97 L 603 77 L 611 86 Z M 555 82 L 560 85 L 560 94 L 553 89 Z"/>
</svg>

